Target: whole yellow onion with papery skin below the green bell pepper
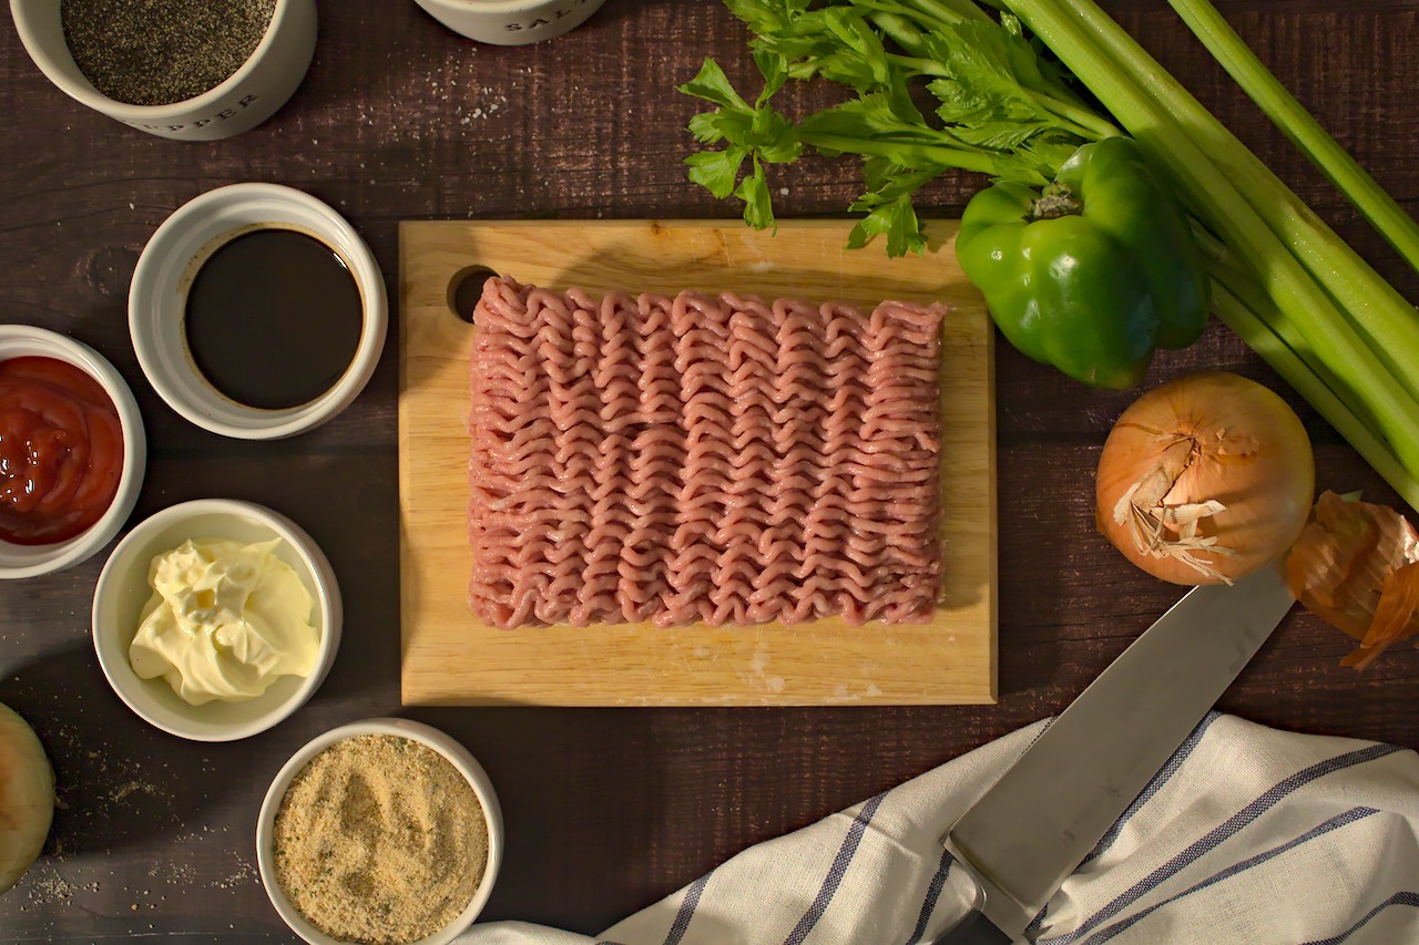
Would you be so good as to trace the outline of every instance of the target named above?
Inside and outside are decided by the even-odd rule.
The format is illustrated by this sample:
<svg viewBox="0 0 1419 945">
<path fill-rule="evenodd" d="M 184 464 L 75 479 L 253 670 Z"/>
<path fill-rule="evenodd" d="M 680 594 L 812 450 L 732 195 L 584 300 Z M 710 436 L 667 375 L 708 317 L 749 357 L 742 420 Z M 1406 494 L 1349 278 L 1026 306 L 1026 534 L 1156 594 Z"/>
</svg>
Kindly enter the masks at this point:
<svg viewBox="0 0 1419 945">
<path fill-rule="evenodd" d="M 1311 441 L 1284 400 L 1225 372 L 1145 393 L 1095 480 L 1098 531 L 1149 575 L 1232 583 L 1284 553 L 1315 494 Z"/>
</svg>

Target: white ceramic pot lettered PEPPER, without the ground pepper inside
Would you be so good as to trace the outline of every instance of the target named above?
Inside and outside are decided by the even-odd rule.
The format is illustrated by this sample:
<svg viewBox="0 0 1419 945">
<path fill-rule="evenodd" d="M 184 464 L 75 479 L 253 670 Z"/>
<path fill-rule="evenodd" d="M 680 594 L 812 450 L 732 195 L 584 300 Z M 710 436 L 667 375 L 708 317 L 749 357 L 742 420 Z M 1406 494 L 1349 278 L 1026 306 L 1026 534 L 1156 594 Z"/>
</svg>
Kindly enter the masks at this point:
<svg viewBox="0 0 1419 945">
<path fill-rule="evenodd" d="M 129 105 L 96 88 L 64 41 L 58 0 L 10 0 L 20 41 L 61 92 L 149 135 L 217 140 L 255 128 L 295 94 L 315 54 L 315 0 L 275 0 L 271 26 L 251 57 L 216 88 L 172 105 Z"/>
</svg>

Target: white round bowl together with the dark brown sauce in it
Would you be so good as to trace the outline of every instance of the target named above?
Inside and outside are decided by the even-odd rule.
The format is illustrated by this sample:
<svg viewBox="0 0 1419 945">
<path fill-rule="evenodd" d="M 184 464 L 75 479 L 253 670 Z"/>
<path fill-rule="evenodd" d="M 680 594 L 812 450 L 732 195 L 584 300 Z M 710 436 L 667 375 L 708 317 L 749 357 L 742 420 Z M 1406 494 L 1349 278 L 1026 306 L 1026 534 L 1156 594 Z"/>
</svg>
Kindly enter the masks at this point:
<svg viewBox="0 0 1419 945">
<path fill-rule="evenodd" d="M 210 190 L 153 233 L 129 332 L 158 394 L 192 423 L 274 440 L 348 407 L 379 362 L 385 280 L 333 209 L 278 184 Z"/>
</svg>

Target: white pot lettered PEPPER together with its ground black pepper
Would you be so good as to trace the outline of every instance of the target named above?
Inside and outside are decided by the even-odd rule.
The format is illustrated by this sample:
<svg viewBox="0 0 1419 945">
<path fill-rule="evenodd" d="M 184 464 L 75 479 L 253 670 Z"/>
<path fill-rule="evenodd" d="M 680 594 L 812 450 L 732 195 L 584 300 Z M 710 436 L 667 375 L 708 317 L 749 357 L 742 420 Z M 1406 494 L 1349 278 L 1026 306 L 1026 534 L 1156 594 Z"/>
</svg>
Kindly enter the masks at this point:
<svg viewBox="0 0 1419 945">
<path fill-rule="evenodd" d="M 315 0 L 11 0 L 10 11 L 64 94 L 176 140 L 255 128 L 315 54 Z"/>
</svg>

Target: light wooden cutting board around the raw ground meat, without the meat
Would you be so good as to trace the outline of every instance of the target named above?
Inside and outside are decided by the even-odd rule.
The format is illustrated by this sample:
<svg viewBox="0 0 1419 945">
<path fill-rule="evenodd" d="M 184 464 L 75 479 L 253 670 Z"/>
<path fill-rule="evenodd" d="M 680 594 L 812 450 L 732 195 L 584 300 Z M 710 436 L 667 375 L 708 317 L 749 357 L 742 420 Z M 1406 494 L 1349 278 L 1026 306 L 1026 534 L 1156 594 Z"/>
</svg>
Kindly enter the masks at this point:
<svg viewBox="0 0 1419 945">
<path fill-rule="evenodd" d="M 995 387 L 985 302 L 956 224 L 924 255 L 844 250 L 849 221 L 406 221 L 399 230 L 399 502 L 404 705 L 905 705 L 996 692 Z M 492 270 L 592 292 L 944 301 L 945 595 L 922 626 L 653 624 L 498 630 L 467 603 L 468 355 L 457 287 Z M 477 299 L 477 292 L 471 294 Z M 471 309 L 471 302 L 467 305 Z"/>
</svg>

